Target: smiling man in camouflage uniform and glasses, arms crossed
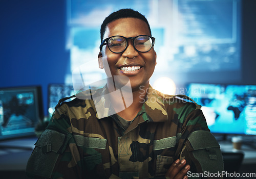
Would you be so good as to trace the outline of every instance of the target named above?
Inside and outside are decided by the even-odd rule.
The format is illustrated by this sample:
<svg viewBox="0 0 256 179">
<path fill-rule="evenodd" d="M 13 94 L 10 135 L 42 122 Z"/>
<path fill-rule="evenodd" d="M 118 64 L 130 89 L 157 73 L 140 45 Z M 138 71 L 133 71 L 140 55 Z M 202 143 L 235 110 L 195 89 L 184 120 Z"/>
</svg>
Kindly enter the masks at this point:
<svg viewBox="0 0 256 179">
<path fill-rule="evenodd" d="M 156 52 L 146 18 L 131 9 L 112 13 L 101 25 L 101 41 L 99 67 L 105 69 L 108 83 L 96 92 L 89 90 L 98 100 L 60 101 L 35 144 L 28 175 L 187 178 L 189 170 L 222 171 L 219 144 L 200 106 L 150 86 Z M 129 90 L 121 90 L 126 84 L 132 98 L 125 97 Z M 121 100 L 115 95 L 118 90 Z M 119 109 L 123 104 L 129 105 Z"/>
</svg>

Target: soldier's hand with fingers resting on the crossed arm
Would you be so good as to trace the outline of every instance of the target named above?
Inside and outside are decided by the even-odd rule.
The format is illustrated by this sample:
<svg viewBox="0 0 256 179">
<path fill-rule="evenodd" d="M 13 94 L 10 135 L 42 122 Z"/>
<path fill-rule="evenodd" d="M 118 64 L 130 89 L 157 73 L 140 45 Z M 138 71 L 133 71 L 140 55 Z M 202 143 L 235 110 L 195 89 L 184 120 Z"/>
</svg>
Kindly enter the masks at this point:
<svg viewBox="0 0 256 179">
<path fill-rule="evenodd" d="M 187 179 L 187 172 L 189 171 L 190 166 L 186 165 L 186 160 L 183 159 L 180 161 L 176 160 L 168 169 L 165 176 L 168 176 L 170 179 Z"/>
</svg>

